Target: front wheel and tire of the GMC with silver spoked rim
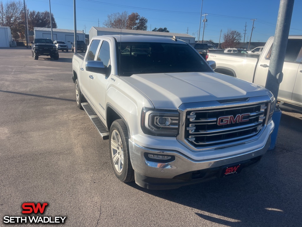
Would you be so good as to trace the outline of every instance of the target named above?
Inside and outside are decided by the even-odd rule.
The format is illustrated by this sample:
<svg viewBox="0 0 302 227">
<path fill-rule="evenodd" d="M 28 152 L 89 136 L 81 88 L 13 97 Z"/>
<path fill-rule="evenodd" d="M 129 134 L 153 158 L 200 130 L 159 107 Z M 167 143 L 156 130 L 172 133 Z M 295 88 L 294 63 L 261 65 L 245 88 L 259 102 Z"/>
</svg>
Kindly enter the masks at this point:
<svg viewBox="0 0 302 227">
<path fill-rule="evenodd" d="M 124 183 L 134 180 L 128 140 L 128 130 L 124 121 L 115 120 L 109 134 L 110 159 L 115 176 Z"/>
</svg>

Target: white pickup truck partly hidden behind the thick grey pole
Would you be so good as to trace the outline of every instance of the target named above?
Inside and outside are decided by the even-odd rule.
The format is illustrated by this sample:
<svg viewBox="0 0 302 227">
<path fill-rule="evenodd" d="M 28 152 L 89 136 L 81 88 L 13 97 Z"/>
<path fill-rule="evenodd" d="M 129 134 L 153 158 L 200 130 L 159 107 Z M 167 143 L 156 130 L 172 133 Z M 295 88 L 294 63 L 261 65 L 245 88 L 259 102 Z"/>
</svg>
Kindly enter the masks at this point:
<svg viewBox="0 0 302 227">
<path fill-rule="evenodd" d="M 265 87 L 271 48 L 270 37 L 260 55 L 209 53 L 208 61 L 216 62 L 215 72 L 237 77 Z M 302 36 L 288 37 L 283 81 L 279 87 L 278 101 L 282 107 L 302 111 Z"/>
</svg>

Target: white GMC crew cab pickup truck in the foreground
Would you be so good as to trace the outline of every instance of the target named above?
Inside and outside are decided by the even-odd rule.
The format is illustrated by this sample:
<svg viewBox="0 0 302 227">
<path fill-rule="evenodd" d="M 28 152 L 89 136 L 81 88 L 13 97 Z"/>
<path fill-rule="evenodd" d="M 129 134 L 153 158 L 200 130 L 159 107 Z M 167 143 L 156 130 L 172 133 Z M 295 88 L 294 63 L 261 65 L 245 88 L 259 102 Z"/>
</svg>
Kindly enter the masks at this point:
<svg viewBox="0 0 302 227">
<path fill-rule="evenodd" d="M 109 139 L 122 182 L 174 189 L 231 176 L 270 145 L 271 92 L 215 73 L 184 41 L 97 36 L 72 68 L 76 104 Z"/>
</svg>

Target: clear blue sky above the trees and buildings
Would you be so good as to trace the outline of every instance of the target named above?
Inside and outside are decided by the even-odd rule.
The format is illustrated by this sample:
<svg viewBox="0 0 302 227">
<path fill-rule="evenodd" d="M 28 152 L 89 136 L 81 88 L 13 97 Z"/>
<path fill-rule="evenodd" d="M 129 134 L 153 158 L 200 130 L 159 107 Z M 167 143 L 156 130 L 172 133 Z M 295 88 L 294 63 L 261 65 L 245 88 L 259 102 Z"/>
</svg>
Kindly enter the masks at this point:
<svg viewBox="0 0 302 227">
<path fill-rule="evenodd" d="M 9 0 L 2 0 L 3 3 Z M 23 0 L 22 0 L 23 2 Z M 25 0 L 29 10 L 49 10 L 49 0 Z M 73 0 L 50 0 L 58 28 L 73 29 Z M 246 27 L 245 41 L 249 41 L 252 20 L 254 24 L 252 42 L 266 42 L 275 34 L 278 16 L 279 0 L 204 0 L 202 14 L 207 13 L 207 23 L 204 30 L 204 40 L 219 41 L 228 29 L 242 33 Z M 291 20 L 290 35 L 302 35 L 301 27 L 302 1 L 296 0 Z M 167 27 L 170 32 L 187 33 L 198 38 L 201 0 L 167 1 L 167 0 L 76 0 L 77 30 L 84 30 L 86 34 L 92 26 L 103 27 L 107 15 L 115 12 L 127 11 L 129 14 L 137 12 L 148 19 L 148 30 Z M 85 26 L 85 27 L 84 27 Z M 200 40 L 202 39 L 203 23 L 201 24 Z M 221 35 L 221 37 L 222 37 Z M 221 38 L 221 42 L 223 39 Z"/>
</svg>

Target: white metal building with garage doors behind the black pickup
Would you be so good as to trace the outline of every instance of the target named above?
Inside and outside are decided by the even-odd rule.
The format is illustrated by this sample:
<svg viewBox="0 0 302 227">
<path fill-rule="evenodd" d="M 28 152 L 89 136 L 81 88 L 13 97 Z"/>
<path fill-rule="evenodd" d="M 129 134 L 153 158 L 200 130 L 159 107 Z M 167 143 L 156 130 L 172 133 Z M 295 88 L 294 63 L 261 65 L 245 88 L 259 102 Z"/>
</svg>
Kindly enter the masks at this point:
<svg viewBox="0 0 302 227">
<path fill-rule="evenodd" d="M 77 30 L 77 40 L 85 42 L 84 31 Z M 51 39 L 50 28 L 34 28 L 34 38 L 49 38 Z M 53 41 L 64 41 L 68 48 L 71 48 L 71 42 L 74 42 L 74 30 L 53 28 Z"/>
</svg>

